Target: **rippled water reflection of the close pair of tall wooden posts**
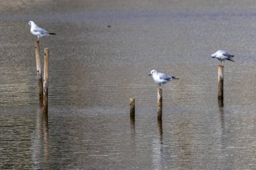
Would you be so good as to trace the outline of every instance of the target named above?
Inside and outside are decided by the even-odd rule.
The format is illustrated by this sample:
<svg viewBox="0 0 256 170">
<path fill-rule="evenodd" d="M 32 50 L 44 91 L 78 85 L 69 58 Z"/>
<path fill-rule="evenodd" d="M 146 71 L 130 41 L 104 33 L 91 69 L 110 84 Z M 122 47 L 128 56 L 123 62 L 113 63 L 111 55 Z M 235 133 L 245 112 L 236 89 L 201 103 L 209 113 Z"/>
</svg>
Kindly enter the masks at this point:
<svg viewBox="0 0 256 170">
<path fill-rule="evenodd" d="M 41 108 L 36 115 L 36 130 L 32 136 L 33 169 L 50 168 L 49 163 L 49 127 L 48 115 L 42 114 Z"/>
</svg>

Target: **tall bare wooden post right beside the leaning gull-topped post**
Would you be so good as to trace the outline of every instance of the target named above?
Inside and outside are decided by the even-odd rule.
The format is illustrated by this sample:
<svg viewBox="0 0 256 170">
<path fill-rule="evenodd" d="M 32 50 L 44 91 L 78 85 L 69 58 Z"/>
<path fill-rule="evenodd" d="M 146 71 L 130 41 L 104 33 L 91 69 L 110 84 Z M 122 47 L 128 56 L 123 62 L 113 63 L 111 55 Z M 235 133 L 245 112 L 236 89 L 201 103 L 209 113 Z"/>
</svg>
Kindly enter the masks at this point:
<svg viewBox="0 0 256 170">
<path fill-rule="evenodd" d="M 43 112 L 48 113 L 48 70 L 49 70 L 49 48 L 44 48 L 44 100 Z"/>
</svg>

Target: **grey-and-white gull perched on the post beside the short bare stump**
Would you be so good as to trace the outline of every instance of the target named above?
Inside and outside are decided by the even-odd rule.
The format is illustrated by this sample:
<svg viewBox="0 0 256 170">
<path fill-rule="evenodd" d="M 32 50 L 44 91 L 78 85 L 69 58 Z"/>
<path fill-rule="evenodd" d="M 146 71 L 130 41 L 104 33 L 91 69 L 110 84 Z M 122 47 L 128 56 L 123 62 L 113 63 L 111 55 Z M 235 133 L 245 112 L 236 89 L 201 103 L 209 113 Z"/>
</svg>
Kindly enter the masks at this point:
<svg viewBox="0 0 256 170">
<path fill-rule="evenodd" d="M 175 77 L 170 77 L 164 73 L 158 73 L 155 70 L 152 70 L 150 72 L 150 75 L 152 75 L 154 81 L 159 85 L 159 87 L 161 88 L 161 85 L 164 85 L 165 83 L 167 83 L 168 81 L 171 81 L 172 79 L 178 79 Z M 148 75 L 148 76 L 150 76 Z"/>
</svg>

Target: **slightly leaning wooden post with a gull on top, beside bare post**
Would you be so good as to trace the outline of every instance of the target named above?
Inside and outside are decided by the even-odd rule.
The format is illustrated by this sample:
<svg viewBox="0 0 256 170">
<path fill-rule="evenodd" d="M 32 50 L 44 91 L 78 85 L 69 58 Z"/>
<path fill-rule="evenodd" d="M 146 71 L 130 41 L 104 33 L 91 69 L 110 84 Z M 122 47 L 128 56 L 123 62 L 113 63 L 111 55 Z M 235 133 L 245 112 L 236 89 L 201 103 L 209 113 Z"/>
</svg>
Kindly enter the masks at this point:
<svg viewBox="0 0 256 170">
<path fill-rule="evenodd" d="M 41 62 L 40 62 L 40 47 L 39 47 L 39 40 L 34 42 L 34 49 L 36 52 L 36 71 L 37 71 L 37 79 L 38 79 L 38 94 L 39 94 L 39 101 L 42 104 L 42 71 L 41 71 Z"/>
</svg>

